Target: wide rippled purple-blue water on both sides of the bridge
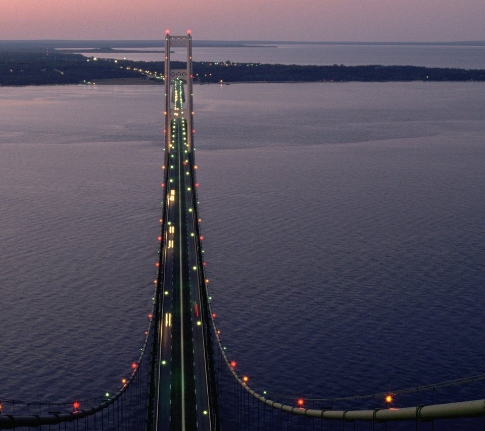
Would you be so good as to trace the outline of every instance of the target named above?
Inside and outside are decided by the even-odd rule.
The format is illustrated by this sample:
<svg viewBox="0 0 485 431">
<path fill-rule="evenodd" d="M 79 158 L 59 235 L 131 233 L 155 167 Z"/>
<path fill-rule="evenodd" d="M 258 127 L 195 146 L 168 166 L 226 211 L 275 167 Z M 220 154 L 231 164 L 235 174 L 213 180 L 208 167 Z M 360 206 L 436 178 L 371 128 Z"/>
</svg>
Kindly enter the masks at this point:
<svg viewBox="0 0 485 431">
<path fill-rule="evenodd" d="M 254 385 L 352 396 L 485 372 L 483 84 L 194 93 L 213 307 Z M 98 395 L 129 373 L 162 110 L 160 87 L 2 88 L 0 398 Z"/>
</svg>

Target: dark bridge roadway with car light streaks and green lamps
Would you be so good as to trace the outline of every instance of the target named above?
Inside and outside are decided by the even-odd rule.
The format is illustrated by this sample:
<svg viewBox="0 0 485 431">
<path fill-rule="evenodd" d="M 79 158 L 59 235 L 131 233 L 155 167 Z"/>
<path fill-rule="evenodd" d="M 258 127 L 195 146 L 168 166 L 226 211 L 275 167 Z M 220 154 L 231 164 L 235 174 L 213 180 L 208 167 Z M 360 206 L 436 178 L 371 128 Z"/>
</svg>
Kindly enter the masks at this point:
<svg viewBox="0 0 485 431">
<path fill-rule="evenodd" d="M 177 89 L 175 88 L 175 91 Z M 180 99 L 180 103 L 182 100 Z M 181 107 L 181 106 L 180 106 Z M 176 104 L 177 109 L 177 104 Z M 163 253 L 163 303 L 158 352 L 155 430 L 212 429 L 208 362 L 203 334 L 191 168 L 186 120 L 172 120 Z"/>
</svg>

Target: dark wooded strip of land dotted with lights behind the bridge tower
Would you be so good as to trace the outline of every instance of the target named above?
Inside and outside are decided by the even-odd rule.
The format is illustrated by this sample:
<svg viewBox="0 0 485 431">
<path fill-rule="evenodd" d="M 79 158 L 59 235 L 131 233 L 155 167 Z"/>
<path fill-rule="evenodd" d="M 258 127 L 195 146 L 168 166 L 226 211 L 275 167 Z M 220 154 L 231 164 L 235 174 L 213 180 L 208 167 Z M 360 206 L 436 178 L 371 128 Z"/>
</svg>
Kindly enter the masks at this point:
<svg viewBox="0 0 485 431">
<path fill-rule="evenodd" d="M 174 68 L 184 67 L 181 63 Z M 86 58 L 75 53 L 0 51 L 0 85 L 163 83 L 164 64 Z M 119 81 L 122 80 L 122 81 Z M 483 69 L 420 66 L 301 66 L 194 62 L 195 83 L 324 81 L 485 81 Z"/>
</svg>

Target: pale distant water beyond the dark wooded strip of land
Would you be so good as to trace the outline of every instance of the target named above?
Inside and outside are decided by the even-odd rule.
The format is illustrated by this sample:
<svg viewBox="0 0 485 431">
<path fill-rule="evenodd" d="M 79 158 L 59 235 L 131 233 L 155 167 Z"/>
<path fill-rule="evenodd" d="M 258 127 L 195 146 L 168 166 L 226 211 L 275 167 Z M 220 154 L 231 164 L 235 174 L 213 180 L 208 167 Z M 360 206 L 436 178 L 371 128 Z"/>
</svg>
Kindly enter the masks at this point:
<svg viewBox="0 0 485 431">
<path fill-rule="evenodd" d="M 132 48 L 127 48 L 132 49 Z M 149 48 L 151 50 L 157 48 Z M 106 53 L 102 58 L 162 61 L 161 53 Z M 172 48 L 172 60 L 186 61 L 184 48 Z M 92 57 L 93 54 L 85 54 Z M 485 46 L 433 45 L 273 45 L 272 47 L 193 48 L 197 61 L 359 66 L 413 65 L 485 69 Z"/>
</svg>

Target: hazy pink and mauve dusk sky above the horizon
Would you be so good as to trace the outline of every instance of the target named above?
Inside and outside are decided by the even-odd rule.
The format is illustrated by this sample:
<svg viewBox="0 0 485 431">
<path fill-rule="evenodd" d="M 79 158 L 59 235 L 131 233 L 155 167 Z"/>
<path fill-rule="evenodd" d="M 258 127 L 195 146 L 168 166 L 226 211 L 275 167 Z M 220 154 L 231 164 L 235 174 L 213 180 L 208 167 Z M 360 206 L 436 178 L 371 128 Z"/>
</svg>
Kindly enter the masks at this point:
<svg viewBox="0 0 485 431">
<path fill-rule="evenodd" d="M 0 39 L 446 42 L 484 23 L 485 0 L 0 0 Z"/>
</svg>

